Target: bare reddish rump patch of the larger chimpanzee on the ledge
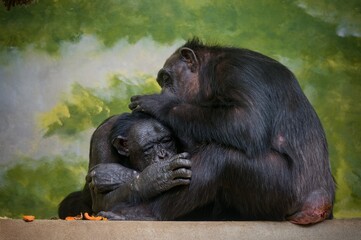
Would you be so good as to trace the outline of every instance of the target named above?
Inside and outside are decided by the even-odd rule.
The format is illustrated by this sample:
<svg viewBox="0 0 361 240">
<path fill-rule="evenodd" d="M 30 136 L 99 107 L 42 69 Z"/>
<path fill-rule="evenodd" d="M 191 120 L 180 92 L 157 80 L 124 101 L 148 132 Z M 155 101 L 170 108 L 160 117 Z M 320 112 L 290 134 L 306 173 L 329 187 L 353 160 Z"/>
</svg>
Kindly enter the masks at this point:
<svg viewBox="0 0 361 240">
<path fill-rule="evenodd" d="M 325 191 L 314 191 L 306 199 L 301 210 L 287 217 L 294 224 L 309 225 L 322 222 L 332 214 L 332 202 Z"/>
</svg>

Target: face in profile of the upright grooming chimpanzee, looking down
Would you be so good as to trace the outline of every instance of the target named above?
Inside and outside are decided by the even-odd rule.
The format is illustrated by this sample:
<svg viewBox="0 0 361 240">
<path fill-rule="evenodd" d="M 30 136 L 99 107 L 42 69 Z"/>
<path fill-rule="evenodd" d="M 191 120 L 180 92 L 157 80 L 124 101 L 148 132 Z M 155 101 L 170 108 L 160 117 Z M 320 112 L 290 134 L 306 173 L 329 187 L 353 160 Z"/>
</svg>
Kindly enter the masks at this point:
<svg viewBox="0 0 361 240">
<path fill-rule="evenodd" d="M 189 48 L 181 48 L 171 55 L 158 72 L 157 82 L 162 92 L 190 100 L 199 91 L 198 60 Z"/>
</svg>

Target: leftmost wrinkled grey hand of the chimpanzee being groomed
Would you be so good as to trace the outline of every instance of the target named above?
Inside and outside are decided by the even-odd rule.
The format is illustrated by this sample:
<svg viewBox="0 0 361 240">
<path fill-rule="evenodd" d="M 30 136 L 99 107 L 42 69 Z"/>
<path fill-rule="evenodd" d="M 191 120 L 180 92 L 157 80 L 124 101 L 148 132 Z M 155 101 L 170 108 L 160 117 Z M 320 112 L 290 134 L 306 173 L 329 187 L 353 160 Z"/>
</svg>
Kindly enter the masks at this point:
<svg viewBox="0 0 361 240">
<path fill-rule="evenodd" d="M 138 172 L 117 163 L 101 163 L 86 176 L 86 182 L 97 193 L 113 191 L 138 175 Z"/>
</svg>

